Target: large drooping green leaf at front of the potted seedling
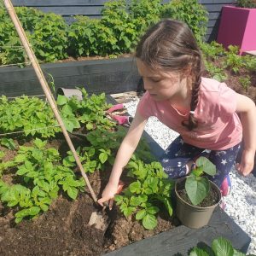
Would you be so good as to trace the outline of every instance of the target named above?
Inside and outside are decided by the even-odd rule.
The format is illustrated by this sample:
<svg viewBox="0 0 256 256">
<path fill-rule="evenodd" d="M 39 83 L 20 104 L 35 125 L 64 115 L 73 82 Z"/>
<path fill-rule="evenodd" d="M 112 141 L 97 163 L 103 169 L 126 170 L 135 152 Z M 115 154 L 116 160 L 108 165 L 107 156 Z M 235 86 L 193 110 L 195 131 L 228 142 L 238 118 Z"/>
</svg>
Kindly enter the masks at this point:
<svg viewBox="0 0 256 256">
<path fill-rule="evenodd" d="M 206 177 L 190 176 L 186 178 L 185 189 L 190 201 L 196 206 L 207 196 L 210 184 Z"/>
</svg>

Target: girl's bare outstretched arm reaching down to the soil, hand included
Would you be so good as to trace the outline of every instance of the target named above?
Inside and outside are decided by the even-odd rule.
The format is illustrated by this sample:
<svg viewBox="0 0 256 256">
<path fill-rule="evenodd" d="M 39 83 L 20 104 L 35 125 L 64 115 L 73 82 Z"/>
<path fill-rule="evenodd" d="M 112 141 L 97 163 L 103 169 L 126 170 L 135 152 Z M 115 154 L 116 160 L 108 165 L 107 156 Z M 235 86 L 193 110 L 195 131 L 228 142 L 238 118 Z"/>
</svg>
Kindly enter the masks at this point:
<svg viewBox="0 0 256 256">
<path fill-rule="evenodd" d="M 99 204 L 102 205 L 103 202 L 113 199 L 114 195 L 116 194 L 119 185 L 119 178 L 128 161 L 131 159 L 131 155 L 137 148 L 137 144 L 142 137 L 146 123 L 147 119 L 143 118 L 141 114 L 136 112 L 131 123 L 131 127 L 119 147 L 108 184 L 102 192 L 102 198 L 98 201 Z M 111 208 L 110 202 L 109 207 Z"/>
</svg>

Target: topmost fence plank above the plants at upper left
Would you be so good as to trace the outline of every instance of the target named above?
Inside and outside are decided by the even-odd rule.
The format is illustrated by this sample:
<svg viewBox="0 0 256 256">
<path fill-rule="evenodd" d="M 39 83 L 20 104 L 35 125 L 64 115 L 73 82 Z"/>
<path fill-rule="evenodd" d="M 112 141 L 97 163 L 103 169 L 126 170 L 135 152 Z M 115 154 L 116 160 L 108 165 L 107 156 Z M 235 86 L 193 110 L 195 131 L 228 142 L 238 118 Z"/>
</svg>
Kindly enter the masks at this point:
<svg viewBox="0 0 256 256">
<path fill-rule="evenodd" d="M 104 5 L 108 0 L 12 0 L 15 6 L 86 6 Z"/>
</svg>

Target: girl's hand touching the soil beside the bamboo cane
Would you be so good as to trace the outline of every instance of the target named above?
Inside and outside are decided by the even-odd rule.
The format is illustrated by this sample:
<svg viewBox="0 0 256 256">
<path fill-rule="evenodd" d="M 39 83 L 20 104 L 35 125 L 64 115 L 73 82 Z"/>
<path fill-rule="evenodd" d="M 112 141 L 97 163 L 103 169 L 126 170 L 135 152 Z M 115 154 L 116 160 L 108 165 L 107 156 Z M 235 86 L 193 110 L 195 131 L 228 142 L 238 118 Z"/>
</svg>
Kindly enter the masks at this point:
<svg viewBox="0 0 256 256">
<path fill-rule="evenodd" d="M 107 186 L 102 192 L 102 198 L 98 200 L 98 203 L 103 207 L 103 203 L 108 201 L 108 207 L 109 210 L 111 210 L 113 207 L 114 195 L 119 194 L 123 189 L 124 185 L 125 184 L 122 181 L 119 181 L 118 186 L 108 182 Z"/>
</svg>

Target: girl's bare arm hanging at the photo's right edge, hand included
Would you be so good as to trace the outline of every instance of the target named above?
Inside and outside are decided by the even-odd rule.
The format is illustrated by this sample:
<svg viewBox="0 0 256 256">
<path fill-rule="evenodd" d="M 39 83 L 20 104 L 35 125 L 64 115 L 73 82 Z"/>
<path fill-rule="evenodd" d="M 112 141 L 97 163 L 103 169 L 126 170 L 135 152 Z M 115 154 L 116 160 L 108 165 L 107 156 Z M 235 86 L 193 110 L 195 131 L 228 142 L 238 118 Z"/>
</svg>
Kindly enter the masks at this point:
<svg viewBox="0 0 256 256">
<path fill-rule="evenodd" d="M 247 96 L 236 93 L 236 112 L 240 113 L 244 149 L 237 170 L 247 176 L 253 171 L 256 150 L 256 107 Z"/>
</svg>

